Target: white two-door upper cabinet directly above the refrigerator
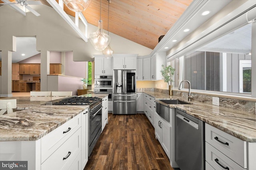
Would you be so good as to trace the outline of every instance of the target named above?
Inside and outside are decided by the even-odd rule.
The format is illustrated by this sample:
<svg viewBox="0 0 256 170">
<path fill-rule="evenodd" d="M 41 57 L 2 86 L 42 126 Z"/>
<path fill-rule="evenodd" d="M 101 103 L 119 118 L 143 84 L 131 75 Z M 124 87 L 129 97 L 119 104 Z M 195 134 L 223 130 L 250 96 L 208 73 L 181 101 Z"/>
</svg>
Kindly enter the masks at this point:
<svg viewBox="0 0 256 170">
<path fill-rule="evenodd" d="M 116 54 L 113 56 L 113 69 L 135 70 L 137 66 L 137 54 Z"/>
</svg>

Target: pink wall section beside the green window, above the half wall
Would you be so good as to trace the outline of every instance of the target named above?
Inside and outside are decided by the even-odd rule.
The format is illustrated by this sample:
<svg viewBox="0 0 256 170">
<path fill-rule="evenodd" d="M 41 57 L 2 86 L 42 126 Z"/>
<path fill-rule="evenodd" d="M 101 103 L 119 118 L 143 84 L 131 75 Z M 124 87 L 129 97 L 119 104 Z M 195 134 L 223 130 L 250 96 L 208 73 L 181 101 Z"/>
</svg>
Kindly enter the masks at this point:
<svg viewBox="0 0 256 170">
<path fill-rule="evenodd" d="M 65 75 L 73 77 L 85 77 L 85 61 L 73 61 L 73 52 L 66 52 L 65 55 Z"/>
</svg>

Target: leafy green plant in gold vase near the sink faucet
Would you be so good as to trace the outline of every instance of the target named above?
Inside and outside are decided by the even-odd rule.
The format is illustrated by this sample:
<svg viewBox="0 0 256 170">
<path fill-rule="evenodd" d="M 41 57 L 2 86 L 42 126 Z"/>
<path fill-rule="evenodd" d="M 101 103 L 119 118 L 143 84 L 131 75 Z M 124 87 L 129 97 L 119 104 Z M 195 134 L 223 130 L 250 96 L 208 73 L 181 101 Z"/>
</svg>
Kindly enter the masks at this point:
<svg viewBox="0 0 256 170">
<path fill-rule="evenodd" d="M 162 65 L 162 68 L 163 69 L 161 70 L 161 74 L 164 77 L 164 82 L 168 83 L 169 95 L 172 96 L 172 82 L 174 82 L 174 80 L 172 78 L 173 78 L 175 69 L 172 68 L 171 65 L 168 65 L 166 67 L 164 65 Z"/>
</svg>

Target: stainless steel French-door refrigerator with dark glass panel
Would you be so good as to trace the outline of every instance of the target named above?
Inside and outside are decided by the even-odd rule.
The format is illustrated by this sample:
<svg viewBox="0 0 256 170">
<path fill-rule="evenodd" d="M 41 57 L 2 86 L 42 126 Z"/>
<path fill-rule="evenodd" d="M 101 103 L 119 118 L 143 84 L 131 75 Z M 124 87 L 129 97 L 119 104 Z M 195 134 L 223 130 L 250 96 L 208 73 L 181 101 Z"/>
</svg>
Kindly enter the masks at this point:
<svg viewBox="0 0 256 170">
<path fill-rule="evenodd" d="M 114 70 L 113 114 L 136 114 L 136 70 Z"/>
</svg>

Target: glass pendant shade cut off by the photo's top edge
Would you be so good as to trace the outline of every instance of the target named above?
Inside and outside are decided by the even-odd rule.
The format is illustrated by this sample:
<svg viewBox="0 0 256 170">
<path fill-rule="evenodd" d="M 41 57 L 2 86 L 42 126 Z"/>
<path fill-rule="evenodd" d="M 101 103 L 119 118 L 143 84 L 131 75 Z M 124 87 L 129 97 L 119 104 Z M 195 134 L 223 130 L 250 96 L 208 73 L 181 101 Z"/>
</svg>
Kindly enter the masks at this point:
<svg viewBox="0 0 256 170">
<path fill-rule="evenodd" d="M 92 0 L 63 0 L 68 9 L 74 12 L 83 12 L 90 5 Z"/>
</svg>

